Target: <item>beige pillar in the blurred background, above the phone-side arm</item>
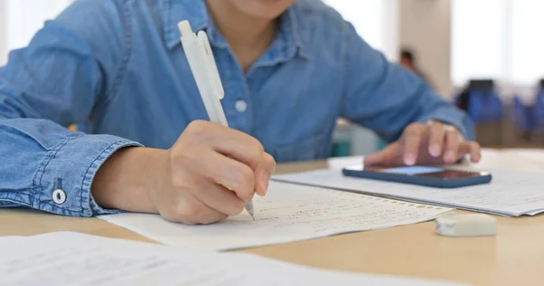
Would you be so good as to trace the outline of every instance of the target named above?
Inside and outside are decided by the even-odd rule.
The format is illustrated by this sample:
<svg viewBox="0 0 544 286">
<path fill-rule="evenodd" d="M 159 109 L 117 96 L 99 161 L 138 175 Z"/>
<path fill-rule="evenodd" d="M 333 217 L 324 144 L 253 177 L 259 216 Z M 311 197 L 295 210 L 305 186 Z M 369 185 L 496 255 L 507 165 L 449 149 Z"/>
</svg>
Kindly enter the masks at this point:
<svg viewBox="0 0 544 286">
<path fill-rule="evenodd" d="M 436 90 L 451 98 L 450 0 L 399 0 L 399 40 L 416 52 Z"/>
</svg>

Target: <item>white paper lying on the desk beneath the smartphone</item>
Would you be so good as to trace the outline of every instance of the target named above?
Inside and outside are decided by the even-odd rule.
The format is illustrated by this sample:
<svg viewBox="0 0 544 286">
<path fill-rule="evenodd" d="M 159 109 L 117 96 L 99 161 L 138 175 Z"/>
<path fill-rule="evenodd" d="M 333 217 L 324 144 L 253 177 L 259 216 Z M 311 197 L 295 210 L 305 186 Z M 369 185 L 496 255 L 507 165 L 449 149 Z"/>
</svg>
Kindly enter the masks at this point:
<svg viewBox="0 0 544 286">
<path fill-rule="evenodd" d="M 535 172 L 494 171 L 489 185 L 443 189 L 348 177 L 340 170 L 316 170 L 274 176 L 275 180 L 382 195 L 422 204 L 442 205 L 493 215 L 544 212 L 544 176 Z"/>
</svg>

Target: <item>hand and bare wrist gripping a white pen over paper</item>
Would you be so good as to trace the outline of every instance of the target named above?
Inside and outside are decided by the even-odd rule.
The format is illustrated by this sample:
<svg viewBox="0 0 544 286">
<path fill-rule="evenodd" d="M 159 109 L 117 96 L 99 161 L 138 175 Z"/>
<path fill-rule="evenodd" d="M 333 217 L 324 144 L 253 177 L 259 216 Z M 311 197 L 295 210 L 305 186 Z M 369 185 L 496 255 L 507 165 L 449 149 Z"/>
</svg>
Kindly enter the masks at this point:
<svg viewBox="0 0 544 286">
<path fill-rule="evenodd" d="M 207 40 L 200 34 L 199 41 Z M 209 118 L 219 124 L 195 120 L 167 150 L 117 150 L 92 181 L 98 205 L 160 214 L 174 223 L 213 224 L 244 207 L 251 214 L 253 196 L 266 195 L 276 162 L 256 138 L 227 127 L 219 73 L 204 68 L 215 67 L 211 49 L 197 40 L 190 32 L 182 43 L 191 68 L 197 67 L 193 71 Z"/>
</svg>

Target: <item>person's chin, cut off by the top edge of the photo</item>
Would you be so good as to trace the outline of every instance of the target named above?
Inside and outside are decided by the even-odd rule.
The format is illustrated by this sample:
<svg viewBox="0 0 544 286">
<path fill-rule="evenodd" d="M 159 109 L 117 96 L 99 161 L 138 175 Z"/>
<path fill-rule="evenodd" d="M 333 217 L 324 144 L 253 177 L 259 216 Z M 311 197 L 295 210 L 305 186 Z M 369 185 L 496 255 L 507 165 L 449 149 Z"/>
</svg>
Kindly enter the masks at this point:
<svg viewBox="0 0 544 286">
<path fill-rule="evenodd" d="M 237 5 L 238 10 L 252 17 L 263 19 L 276 19 L 286 12 L 289 6 L 296 0 L 231 0 Z"/>
</svg>

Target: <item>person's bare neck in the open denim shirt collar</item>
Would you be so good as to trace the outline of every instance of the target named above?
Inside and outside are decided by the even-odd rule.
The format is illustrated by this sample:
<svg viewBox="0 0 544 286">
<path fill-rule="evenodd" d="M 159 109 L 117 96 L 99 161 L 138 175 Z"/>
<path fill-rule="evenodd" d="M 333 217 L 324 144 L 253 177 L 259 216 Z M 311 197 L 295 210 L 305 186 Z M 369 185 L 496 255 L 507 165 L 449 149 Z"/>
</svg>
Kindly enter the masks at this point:
<svg viewBox="0 0 544 286">
<path fill-rule="evenodd" d="M 219 32 L 247 71 L 274 40 L 277 20 L 244 14 L 225 0 L 206 0 L 206 4 Z"/>
</svg>

